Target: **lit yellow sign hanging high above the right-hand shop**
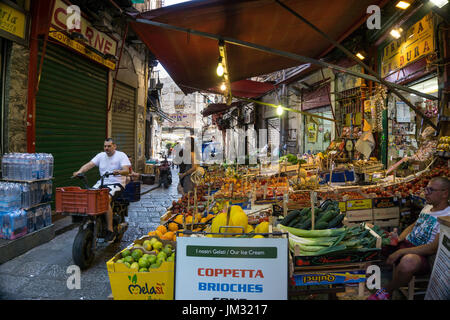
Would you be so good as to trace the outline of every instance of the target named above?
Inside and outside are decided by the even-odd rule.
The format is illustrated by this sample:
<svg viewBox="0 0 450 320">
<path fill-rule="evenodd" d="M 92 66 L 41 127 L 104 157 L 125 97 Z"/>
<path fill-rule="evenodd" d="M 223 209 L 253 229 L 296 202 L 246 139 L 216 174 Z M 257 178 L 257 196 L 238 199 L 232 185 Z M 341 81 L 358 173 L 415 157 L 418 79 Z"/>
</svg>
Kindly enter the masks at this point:
<svg viewBox="0 0 450 320">
<path fill-rule="evenodd" d="M 383 49 L 381 77 L 434 52 L 433 20 L 428 14 Z"/>
</svg>

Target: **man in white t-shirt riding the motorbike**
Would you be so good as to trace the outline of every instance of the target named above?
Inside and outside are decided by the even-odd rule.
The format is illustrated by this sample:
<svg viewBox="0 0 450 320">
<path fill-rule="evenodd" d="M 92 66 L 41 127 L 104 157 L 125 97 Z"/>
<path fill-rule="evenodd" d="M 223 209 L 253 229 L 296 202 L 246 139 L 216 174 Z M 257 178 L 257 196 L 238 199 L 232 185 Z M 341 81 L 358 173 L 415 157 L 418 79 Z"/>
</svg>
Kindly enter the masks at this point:
<svg viewBox="0 0 450 320">
<path fill-rule="evenodd" d="M 113 212 L 111 208 L 111 198 L 114 194 L 120 190 L 117 184 L 121 184 L 125 188 L 126 177 L 130 173 L 131 163 L 128 156 L 121 151 L 116 150 L 117 145 L 114 143 L 112 138 L 107 138 L 104 142 L 103 149 L 104 152 L 100 152 L 91 161 L 84 164 L 78 171 L 73 173 L 73 176 L 85 173 L 90 169 L 97 166 L 100 171 L 100 176 L 104 175 L 105 172 L 113 172 L 114 176 L 110 176 L 104 179 L 104 184 L 110 190 L 109 191 L 109 201 L 108 201 L 108 212 L 106 214 L 106 223 L 108 232 L 106 234 L 105 241 L 110 243 L 115 239 L 115 234 L 113 231 Z M 93 188 L 99 188 L 101 180 L 93 186 Z"/>
</svg>

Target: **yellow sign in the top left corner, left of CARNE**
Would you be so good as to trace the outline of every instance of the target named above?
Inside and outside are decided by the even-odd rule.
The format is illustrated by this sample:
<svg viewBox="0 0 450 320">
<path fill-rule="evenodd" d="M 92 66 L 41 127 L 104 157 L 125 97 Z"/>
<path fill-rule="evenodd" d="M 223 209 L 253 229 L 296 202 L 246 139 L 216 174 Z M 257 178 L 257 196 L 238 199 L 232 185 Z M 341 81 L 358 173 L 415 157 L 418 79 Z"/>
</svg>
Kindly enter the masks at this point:
<svg viewBox="0 0 450 320">
<path fill-rule="evenodd" d="M 0 35 L 11 40 L 25 40 L 26 14 L 0 2 Z"/>
</svg>

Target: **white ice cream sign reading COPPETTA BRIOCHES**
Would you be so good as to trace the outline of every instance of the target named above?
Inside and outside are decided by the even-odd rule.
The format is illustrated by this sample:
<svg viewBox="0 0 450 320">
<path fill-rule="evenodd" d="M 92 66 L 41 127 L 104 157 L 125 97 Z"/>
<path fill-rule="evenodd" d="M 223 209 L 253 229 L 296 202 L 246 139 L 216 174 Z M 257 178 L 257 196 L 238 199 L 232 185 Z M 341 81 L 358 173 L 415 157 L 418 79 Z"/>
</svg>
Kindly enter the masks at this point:
<svg viewBox="0 0 450 320">
<path fill-rule="evenodd" d="M 176 300 L 287 300 L 287 238 L 179 237 L 176 252 Z"/>
</svg>

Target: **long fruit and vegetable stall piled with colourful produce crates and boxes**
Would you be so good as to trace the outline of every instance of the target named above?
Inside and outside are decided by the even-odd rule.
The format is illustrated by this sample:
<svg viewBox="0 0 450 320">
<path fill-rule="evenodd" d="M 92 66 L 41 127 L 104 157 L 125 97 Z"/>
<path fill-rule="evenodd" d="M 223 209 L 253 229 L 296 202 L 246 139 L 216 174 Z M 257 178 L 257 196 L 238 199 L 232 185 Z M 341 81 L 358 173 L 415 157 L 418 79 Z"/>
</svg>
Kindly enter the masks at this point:
<svg viewBox="0 0 450 320">
<path fill-rule="evenodd" d="M 173 201 L 155 230 L 108 261 L 112 295 L 170 300 L 185 297 L 190 286 L 193 297 L 207 299 L 285 299 L 355 284 L 362 295 L 366 269 L 382 259 L 389 232 L 415 221 L 430 179 L 449 175 L 439 150 L 426 161 L 430 150 L 419 150 L 409 160 L 423 163 L 409 171 L 401 169 L 408 159 L 388 170 L 374 158 L 340 162 L 333 148 L 271 165 L 200 167 L 191 177 L 194 191 Z M 285 248 L 286 261 L 274 260 L 269 248 Z M 261 257 L 251 256 L 257 252 Z M 190 265 L 192 276 L 176 278 L 186 274 L 187 261 L 197 269 Z M 255 277 L 272 275 L 274 263 L 282 270 L 276 281 L 285 284 L 278 297 L 266 295 L 269 276 Z M 235 270 L 249 273 L 230 282 Z"/>
</svg>

